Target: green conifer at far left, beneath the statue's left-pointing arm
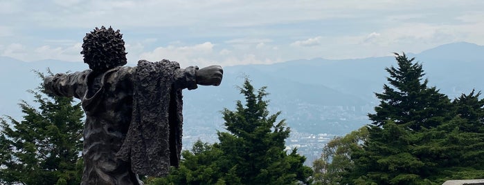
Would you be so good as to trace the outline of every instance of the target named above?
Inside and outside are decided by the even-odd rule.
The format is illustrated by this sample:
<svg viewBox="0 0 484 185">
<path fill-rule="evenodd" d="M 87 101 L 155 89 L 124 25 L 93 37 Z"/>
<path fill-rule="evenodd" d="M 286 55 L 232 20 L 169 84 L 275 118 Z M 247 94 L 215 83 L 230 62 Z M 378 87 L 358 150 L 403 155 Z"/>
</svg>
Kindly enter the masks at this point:
<svg viewBox="0 0 484 185">
<path fill-rule="evenodd" d="M 29 92 L 35 97 L 37 108 L 21 101 L 23 120 L 12 117 L 0 120 L 3 128 L 0 182 L 80 184 L 83 166 L 80 104 L 74 104 L 72 98 L 47 95 L 42 85 Z"/>
</svg>

